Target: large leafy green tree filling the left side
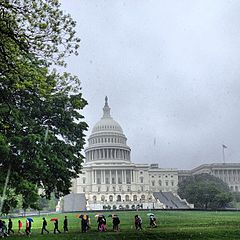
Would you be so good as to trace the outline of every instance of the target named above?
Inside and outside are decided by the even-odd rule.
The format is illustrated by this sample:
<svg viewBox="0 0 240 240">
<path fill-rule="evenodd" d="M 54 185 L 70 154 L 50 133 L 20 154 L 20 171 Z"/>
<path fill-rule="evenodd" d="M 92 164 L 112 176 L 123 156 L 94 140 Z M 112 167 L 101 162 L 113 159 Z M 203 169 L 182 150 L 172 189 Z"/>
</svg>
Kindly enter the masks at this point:
<svg viewBox="0 0 240 240">
<path fill-rule="evenodd" d="M 38 189 L 69 193 L 81 170 L 87 102 L 77 77 L 49 68 L 77 54 L 74 27 L 57 0 L 0 1 L 0 191 L 11 170 L 24 208 Z"/>
</svg>

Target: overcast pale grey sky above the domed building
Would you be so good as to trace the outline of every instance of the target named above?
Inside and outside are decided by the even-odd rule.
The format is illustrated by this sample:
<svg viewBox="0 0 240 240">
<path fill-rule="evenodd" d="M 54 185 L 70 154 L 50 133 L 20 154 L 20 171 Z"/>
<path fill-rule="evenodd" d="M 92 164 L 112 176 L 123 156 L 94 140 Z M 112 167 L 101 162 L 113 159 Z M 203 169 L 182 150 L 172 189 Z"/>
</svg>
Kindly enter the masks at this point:
<svg viewBox="0 0 240 240">
<path fill-rule="evenodd" d="M 61 2 L 82 40 L 67 70 L 90 131 L 107 95 L 133 162 L 190 169 L 222 162 L 222 144 L 240 162 L 239 0 Z"/>
</svg>

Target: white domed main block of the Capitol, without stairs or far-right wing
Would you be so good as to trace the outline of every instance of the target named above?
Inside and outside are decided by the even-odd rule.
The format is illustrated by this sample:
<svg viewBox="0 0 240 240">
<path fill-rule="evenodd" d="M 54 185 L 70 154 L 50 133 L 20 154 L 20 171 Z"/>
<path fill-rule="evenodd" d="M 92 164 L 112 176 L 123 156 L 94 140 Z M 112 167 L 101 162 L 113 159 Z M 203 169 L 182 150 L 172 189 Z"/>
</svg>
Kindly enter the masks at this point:
<svg viewBox="0 0 240 240">
<path fill-rule="evenodd" d="M 177 191 L 177 169 L 131 162 L 127 138 L 110 115 L 107 97 L 103 117 L 93 127 L 88 143 L 82 174 L 72 187 L 73 193 L 85 193 L 88 209 L 163 208 L 153 192 Z"/>
</svg>

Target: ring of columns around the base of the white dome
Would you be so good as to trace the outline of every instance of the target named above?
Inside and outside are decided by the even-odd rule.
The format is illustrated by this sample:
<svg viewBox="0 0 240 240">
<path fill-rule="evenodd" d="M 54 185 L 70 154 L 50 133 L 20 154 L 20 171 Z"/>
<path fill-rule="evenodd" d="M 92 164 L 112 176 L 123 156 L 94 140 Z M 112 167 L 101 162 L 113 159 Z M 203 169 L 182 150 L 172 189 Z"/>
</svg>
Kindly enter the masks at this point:
<svg viewBox="0 0 240 240">
<path fill-rule="evenodd" d="M 87 160 L 97 159 L 124 159 L 130 160 L 130 151 L 124 149 L 103 148 L 86 152 Z"/>
</svg>

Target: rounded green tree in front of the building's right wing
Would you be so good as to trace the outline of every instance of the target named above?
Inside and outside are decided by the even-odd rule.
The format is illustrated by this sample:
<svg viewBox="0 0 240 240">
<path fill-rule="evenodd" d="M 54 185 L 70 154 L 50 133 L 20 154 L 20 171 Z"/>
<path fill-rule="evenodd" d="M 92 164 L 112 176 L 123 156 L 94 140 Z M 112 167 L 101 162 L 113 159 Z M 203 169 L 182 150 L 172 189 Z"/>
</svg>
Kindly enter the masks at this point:
<svg viewBox="0 0 240 240">
<path fill-rule="evenodd" d="M 180 182 L 178 194 L 196 208 L 224 208 L 232 201 L 228 185 L 205 173 L 189 176 Z"/>
</svg>

